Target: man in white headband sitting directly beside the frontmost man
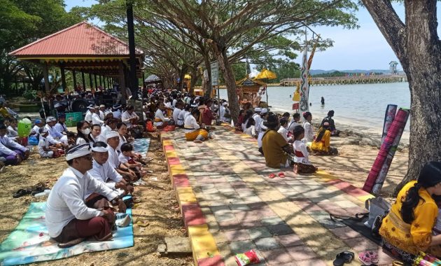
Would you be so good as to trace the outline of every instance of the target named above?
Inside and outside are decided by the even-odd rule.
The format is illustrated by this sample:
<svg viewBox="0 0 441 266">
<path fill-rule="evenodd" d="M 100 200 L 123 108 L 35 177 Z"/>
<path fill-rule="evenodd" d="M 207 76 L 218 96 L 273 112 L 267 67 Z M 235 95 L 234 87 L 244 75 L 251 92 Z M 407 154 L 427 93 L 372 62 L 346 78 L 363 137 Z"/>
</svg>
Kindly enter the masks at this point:
<svg viewBox="0 0 441 266">
<path fill-rule="evenodd" d="M 118 188 L 124 190 L 125 193 L 133 192 L 133 187 L 130 186 L 127 181 L 123 179 L 123 176 L 118 174 L 116 170 L 109 164 L 109 151 L 107 150 L 107 144 L 102 141 L 97 141 L 92 146 L 92 169 L 89 170 L 90 176 L 94 179 L 104 182 L 111 190 L 115 190 L 119 193 Z M 85 198 L 90 200 L 91 197 L 96 199 L 97 193 L 93 191 L 87 191 Z"/>
</svg>

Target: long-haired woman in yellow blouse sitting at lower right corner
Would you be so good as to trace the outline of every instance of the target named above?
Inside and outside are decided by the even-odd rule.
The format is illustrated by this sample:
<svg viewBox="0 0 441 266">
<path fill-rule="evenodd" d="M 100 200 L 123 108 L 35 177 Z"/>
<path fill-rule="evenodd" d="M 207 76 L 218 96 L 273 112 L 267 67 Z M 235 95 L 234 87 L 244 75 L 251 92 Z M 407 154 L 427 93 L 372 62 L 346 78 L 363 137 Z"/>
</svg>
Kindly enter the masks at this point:
<svg viewBox="0 0 441 266">
<path fill-rule="evenodd" d="M 419 251 L 440 257 L 441 235 L 432 229 L 438 216 L 433 196 L 441 195 L 441 162 L 428 162 L 417 181 L 410 181 L 398 193 L 391 211 L 383 219 L 379 234 L 383 246 L 405 262 Z"/>
</svg>

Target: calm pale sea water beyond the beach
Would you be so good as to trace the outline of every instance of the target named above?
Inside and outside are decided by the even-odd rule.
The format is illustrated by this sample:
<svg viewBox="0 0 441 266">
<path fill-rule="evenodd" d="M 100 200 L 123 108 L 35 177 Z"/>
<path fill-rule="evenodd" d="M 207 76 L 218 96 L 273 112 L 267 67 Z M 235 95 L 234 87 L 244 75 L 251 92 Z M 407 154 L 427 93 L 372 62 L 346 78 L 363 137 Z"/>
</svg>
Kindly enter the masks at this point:
<svg viewBox="0 0 441 266">
<path fill-rule="evenodd" d="M 388 104 L 410 108 L 408 83 L 314 85 L 309 89 L 309 111 L 313 122 L 320 123 L 329 110 L 334 110 L 337 128 L 341 124 L 353 130 L 381 134 Z M 271 110 L 293 113 L 294 91 L 295 87 L 268 87 L 268 104 Z M 227 90 L 221 90 L 220 96 L 227 99 Z M 324 105 L 321 105 L 321 97 L 325 98 Z M 266 99 L 266 95 L 262 95 L 262 101 L 266 102 Z M 409 139 L 409 121 L 402 139 Z"/>
</svg>

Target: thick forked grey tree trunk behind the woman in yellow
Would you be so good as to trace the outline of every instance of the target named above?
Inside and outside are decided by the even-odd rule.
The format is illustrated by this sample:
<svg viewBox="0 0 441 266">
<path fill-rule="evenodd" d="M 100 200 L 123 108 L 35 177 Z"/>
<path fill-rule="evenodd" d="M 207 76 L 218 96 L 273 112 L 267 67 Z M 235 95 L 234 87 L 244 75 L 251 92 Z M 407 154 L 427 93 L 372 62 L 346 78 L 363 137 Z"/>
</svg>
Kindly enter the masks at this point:
<svg viewBox="0 0 441 266">
<path fill-rule="evenodd" d="M 417 179 L 423 165 L 441 160 L 441 58 L 436 1 L 405 0 L 405 25 L 389 0 L 363 0 L 397 55 L 410 90 L 410 139 L 407 174 L 395 195 Z"/>
</svg>

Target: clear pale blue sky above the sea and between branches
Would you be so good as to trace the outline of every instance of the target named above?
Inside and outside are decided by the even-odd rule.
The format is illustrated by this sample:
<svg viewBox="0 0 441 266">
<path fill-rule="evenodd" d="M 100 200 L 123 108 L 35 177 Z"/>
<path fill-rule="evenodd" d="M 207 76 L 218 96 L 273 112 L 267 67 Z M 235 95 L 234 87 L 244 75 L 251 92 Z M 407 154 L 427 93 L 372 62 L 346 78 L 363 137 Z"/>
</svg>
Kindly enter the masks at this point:
<svg viewBox="0 0 441 266">
<path fill-rule="evenodd" d="M 91 6 L 94 0 L 65 0 L 66 10 L 72 6 Z M 393 4 L 400 18 L 404 20 L 404 6 Z M 398 61 L 393 50 L 375 25 L 370 14 L 363 7 L 356 13 L 359 29 L 342 29 L 341 27 L 318 27 L 314 29 L 323 38 L 331 38 L 334 46 L 323 52 L 316 52 L 312 69 L 388 69 L 388 63 Z M 438 8 L 438 18 L 441 16 Z M 440 31 L 440 27 L 438 27 Z M 311 36 L 311 34 L 309 34 Z M 300 55 L 300 51 L 299 51 Z M 301 56 L 295 60 L 300 63 Z M 398 69 L 401 69 L 398 66 Z"/>
</svg>

